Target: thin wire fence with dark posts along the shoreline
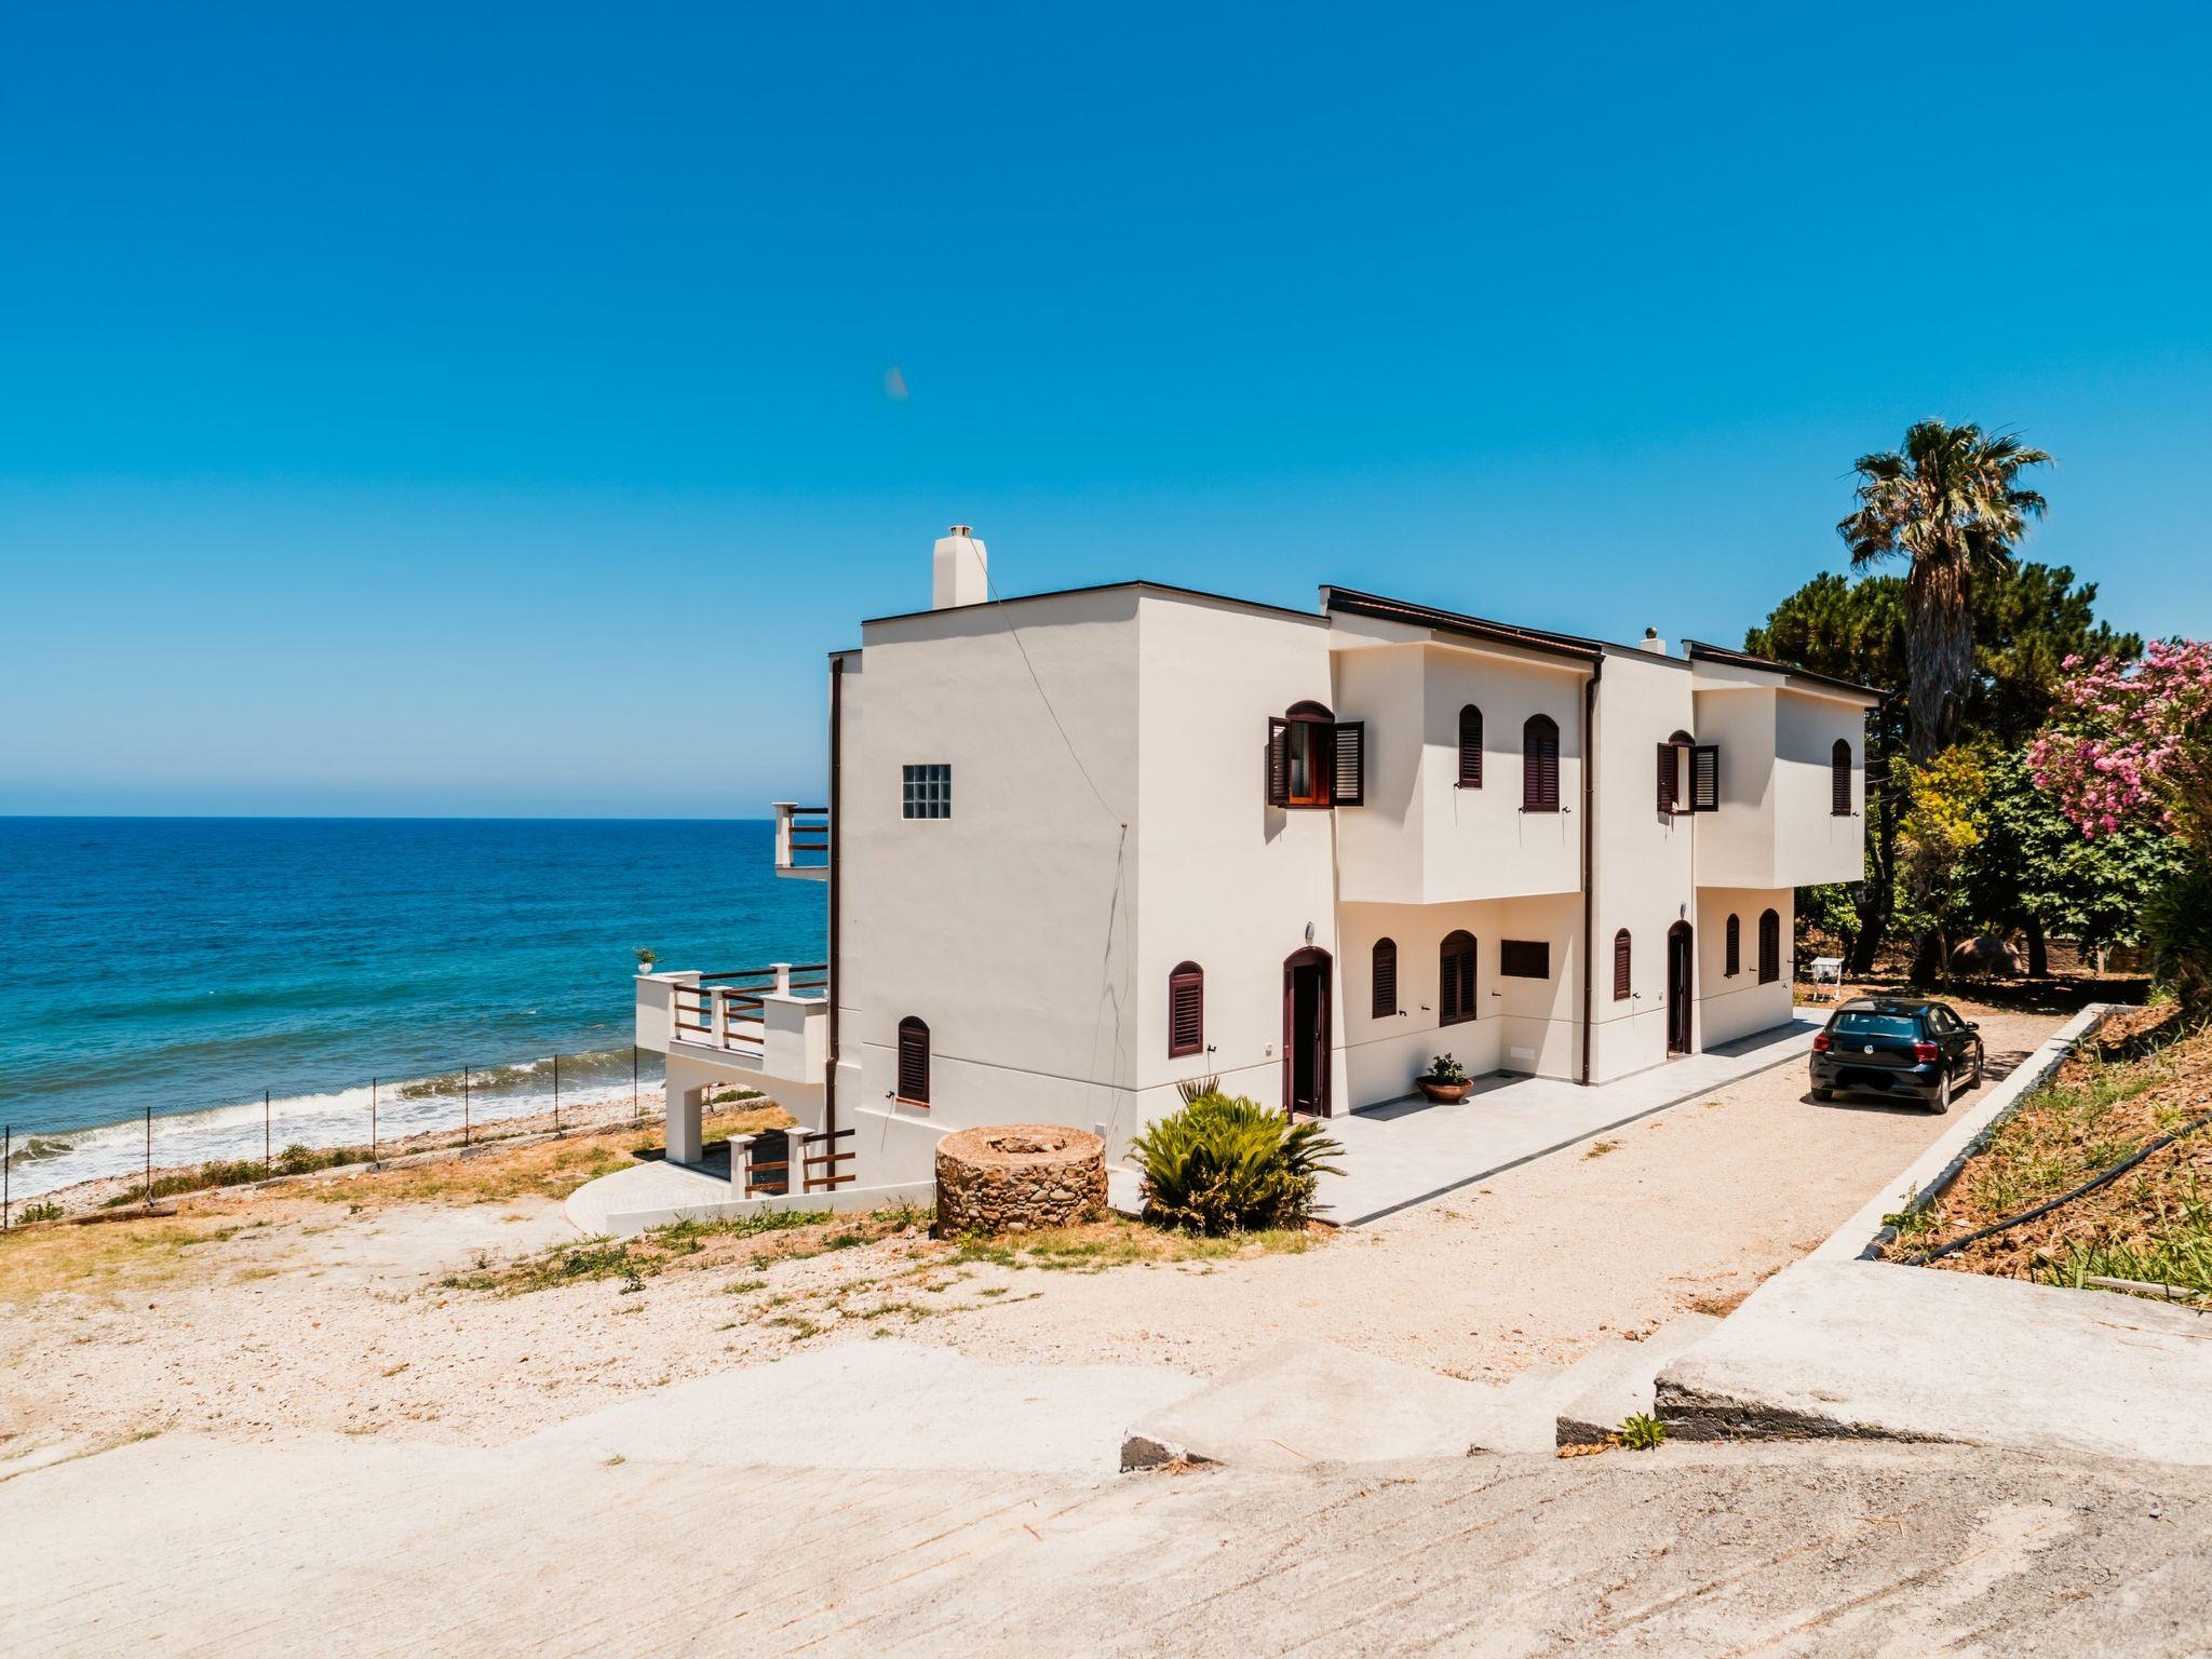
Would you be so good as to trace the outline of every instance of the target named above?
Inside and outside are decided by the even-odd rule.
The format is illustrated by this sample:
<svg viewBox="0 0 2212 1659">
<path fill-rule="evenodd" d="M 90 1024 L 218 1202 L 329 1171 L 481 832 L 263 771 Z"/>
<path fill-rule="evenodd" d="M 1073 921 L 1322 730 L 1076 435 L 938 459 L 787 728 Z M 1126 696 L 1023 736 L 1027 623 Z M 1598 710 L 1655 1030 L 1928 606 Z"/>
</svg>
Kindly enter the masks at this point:
<svg viewBox="0 0 2212 1659">
<path fill-rule="evenodd" d="M 661 1055 L 637 1046 L 549 1053 L 425 1075 L 372 1075 L 336 1088 L 179 1106 L 148 1099 L 135 1119 L 75 1128 L 0 1124 L 0 1232 L 62 1214 L 84 1181 L 93 1208 L 157 1199 L 442 1146 L 476 1146 L 584 1124 L 637 1124 L 664 1086 Z M 82 1194 L 69 1208 L 84 1208 Z"/>
</svg>

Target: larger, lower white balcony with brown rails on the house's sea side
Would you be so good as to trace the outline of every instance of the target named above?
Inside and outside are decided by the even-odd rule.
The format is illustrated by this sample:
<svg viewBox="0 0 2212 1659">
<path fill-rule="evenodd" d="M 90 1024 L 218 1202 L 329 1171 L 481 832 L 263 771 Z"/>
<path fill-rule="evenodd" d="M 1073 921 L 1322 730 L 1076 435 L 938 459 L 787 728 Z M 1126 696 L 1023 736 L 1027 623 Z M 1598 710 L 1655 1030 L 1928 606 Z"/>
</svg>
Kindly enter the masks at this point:
<svg viewBox="0 0 2212 1659">
<path fill-rule="evenodd" d="M 821 962 L 639 973 L 637 1046 L 717 1060 L 759 1082 L 821 1084 L 830 998 Z"/>
</svg>

